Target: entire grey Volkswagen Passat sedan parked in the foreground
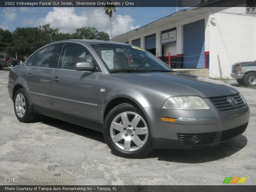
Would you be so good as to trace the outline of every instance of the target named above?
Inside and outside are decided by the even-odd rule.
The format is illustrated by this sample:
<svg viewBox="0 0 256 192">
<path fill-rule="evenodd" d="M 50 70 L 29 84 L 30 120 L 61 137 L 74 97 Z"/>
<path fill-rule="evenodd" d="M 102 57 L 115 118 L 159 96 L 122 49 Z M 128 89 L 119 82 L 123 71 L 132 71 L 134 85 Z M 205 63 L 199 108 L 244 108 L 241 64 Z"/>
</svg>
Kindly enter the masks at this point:
<svg viewBox="0 0 256 192">
<path fill-rule="evenodd" d="M 250 113 L 229 85 L 174 72 L 144 49 L 108 41 L 47 44 L 10 70 L 8 90 L 20 122 L 39 113 L 94 129 L 129 158 L 231 140 Z"/>
</svg>

